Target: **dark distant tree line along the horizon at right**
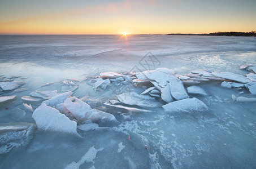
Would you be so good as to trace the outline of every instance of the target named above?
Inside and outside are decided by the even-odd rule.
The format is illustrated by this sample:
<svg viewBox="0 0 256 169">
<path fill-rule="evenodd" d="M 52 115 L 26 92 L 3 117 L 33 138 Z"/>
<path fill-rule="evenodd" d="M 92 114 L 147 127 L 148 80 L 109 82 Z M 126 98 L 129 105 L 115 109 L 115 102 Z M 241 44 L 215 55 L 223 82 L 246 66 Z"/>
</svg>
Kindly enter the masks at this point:
<svg viewBox="0 0 256 169">
<path fill-rule="evenodd" d="M 208 36 L 235 36 L 235 37 L 256 37 L 256 32 L 215 32 L 215 33 L 170 33 L 167 35 L 208 35 Z"/>
</svg>

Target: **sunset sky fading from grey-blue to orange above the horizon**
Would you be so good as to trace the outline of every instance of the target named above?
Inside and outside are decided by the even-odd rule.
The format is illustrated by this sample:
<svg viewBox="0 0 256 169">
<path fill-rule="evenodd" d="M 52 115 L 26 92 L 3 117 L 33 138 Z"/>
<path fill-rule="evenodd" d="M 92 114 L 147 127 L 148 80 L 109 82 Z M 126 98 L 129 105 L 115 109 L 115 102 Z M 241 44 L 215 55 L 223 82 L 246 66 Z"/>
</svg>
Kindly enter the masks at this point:
<svg viewBox="0 0 256 169">
<path fill-rule="evenodd" d="M 0 34 L 256 31 L 255 0 L 0 0 Z"/>
</svg>

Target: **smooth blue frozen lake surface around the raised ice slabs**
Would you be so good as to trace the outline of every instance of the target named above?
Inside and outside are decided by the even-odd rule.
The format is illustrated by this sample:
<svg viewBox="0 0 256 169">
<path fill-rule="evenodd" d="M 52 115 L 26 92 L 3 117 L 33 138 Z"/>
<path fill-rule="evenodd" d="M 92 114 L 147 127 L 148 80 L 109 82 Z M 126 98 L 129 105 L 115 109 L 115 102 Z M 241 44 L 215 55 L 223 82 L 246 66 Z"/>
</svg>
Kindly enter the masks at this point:
<svg viewBox="0 0 256 169">
<path fill-rule="evenodd" d="M 80 168 L 255 168 L 256 102 L 243 103 L 233 101 L 231 97 L 255 98 L 256 95 L 245 87 L 229 89 L 221 86 L 222 81 L 200 82 L 196 86 L 207 95 L 188 96 L 201 100 L 209 109 L 181 113 L 165 112 L 158 106 L 125 105 L 126 109 L 123 109 L 123 105 L 116 101 L 107 102 L 116 106 L 104 104 L 118 100 L 116 95 L 123 93 L 141 94 L 154 87 L 150 82 L 138 83 L 136 87 L 130 82 L 110 79 L 105 90 L 101 86 L 96 90 L 91 85 L 103 72 L 125 75 L 155 68 L 172 69 L 177 77 L 185 75 L 185 79 L 189 77 L 193 82 L 200 73 L 209 77 L 211 71 L 246 75 L 248 70 L 239 69 L 239 66 L 255 64 L 255 48 L 255 37 L 1 36 L 0 75 L 3 76 L 0 80 L 26 82 L 20 88 L 28 90 L 0 90 L 0 96 L 17 96 L 14 103 L 1 106 L 0 123 L 34 123 L 31 109 L 25 109 L 23 103 L 31 104 L 35 110 L 44 99 L 29 97 L 30 101 L 25 101 L 21 97 L 30 96 L 33 91 L 57 90 L 58 94 L 75 92 L 72 96 L 90 103 L 92 109 L 114 115 L 120 124 L 99 125 L 89 131 L 77 130 L 81 137 L 36 130 L 28 144 L 21 145 L 21 138 L 10 152 L 0 154 L 0 168 L 64 168 L 69 164 Z M 144 56 L 149 51 L 157 60 L 147 65 Z M 150 57 L 146 59 L 150 61 Z M 197 70 L 193 72 L 198 74 L 191 74 L 192 70 Z M 71 82 L 79 83 L 78 88 Z M 184 87 L 192 85 L 185 84 Z M 165 86 L 159 83 L 158 87 Z M 156 104 L 167 104 L 159 100 Z M 65 115 L 72 119 L 70 113 Z M 11 133 L 9 137 L 16 138 L 19 133 Z"/>
</svg>

